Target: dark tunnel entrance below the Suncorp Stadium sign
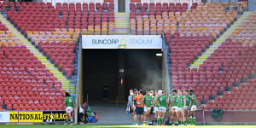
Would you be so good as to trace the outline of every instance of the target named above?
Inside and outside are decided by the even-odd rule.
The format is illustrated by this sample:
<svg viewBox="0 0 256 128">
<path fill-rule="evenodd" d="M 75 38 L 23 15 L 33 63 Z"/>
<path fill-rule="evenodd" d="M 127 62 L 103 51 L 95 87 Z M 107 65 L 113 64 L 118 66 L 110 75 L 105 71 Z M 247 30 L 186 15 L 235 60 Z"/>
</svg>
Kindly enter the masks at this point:
<svg viewBox="0 0 256 128">
<path fill-rule="evenodd" d="M 102 102 L 104 84 L 109 102 L 125 102 L 130 89 L 162 89 L 161 49 L 83 49 L 82 59 L 83 102 Z"/>
</svg>

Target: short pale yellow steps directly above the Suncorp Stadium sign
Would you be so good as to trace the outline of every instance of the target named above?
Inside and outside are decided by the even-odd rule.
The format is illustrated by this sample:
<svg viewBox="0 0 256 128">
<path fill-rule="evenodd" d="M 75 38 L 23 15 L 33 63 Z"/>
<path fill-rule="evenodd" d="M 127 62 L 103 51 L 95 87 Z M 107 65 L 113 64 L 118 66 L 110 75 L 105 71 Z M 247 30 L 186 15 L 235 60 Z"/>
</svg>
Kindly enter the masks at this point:
<svg viewBox="0 0 256 128">
<path fill-rule="evenodd" d="M 130 34 L 130 13 L 114 14 L 114 33 Z"/>
</svg>

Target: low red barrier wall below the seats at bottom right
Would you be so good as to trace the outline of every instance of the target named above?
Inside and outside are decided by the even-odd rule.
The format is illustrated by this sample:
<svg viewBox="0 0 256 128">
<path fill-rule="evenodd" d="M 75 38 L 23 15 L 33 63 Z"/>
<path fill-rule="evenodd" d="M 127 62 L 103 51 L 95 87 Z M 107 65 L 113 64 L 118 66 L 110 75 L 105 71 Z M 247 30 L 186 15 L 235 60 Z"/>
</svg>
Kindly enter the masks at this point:
<svg viewBox="0 0 256 128">
<path fill-rule="evenodd" d="M 218 121 L 212 118 L 212 111 L 199 110 L 195 112 L 198 125 L 255 125 L 256 111 L 254 110 L 227 110 Z"/>
</svg>

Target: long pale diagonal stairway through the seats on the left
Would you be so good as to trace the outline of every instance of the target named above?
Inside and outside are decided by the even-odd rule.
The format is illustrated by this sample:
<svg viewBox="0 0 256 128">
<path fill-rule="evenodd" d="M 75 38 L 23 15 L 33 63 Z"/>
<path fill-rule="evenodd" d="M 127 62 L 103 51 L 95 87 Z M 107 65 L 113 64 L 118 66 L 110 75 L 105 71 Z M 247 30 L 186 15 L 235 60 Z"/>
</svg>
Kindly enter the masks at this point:
<svg viewBox="0 0 256 128">
<path fill-rule="evenodd" d="M 0 14 L 0 20 L 8 27 L 9 31 L 11 31 L 16 38 L 20 39 L 20 42 L 26 46 L 26 49 L 29 49 L 31 53 L 33 53 L 35 56 L 38 57 L 39 61 L 42 61 L 42 64 L 45 65 L 46 68 L 49 69 L 51 73 L 54 74 L 54 76 L 61 82 L 61 89 L 66 90 L 69 92 L 72 96 L 75 95 L 75 85 L 71 84 L 70 81 L 52 64 L 49 60 L 47 60 L 47 57 L 44 56 L 31 42 L 27 40 L 16 28 L 13 26 L 9 20 L 3 17 L 2 14 Z"/>
</svg>

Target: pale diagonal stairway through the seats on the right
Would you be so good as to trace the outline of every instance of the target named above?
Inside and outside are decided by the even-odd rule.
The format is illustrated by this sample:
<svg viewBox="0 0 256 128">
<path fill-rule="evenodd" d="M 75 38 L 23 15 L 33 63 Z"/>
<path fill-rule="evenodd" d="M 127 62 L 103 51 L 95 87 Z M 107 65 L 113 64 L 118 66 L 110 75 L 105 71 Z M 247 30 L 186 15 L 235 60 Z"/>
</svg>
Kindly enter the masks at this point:
<svg viewBox="0 0 256 128">
<path fill-rule="evenodd" d="M 189 67 L 189 68 L 199 68 L 201 64 L 203 64 L 204 61 L 207 61 L 207 58 L 214 53 L 215 49 L 218 49 L 218 46 L 220 46 L 226 38 L 229 38 L 232 32 L 236 30 L 238 26 L 241 25 L 241 23 L 247 19 L 249 15 L 251 15 L 253 12 L 245 12 L 241 17 L 236 20 L 236 22 L 230 26 L 230 28 L 227 29 L 224 34 L 222 34 L 215 42 L 212 43 L 212 45 L 206 49 L 204 53 L 201 54 L 201 56 L 198 57 L 198 59 Z"/>
</svg>

